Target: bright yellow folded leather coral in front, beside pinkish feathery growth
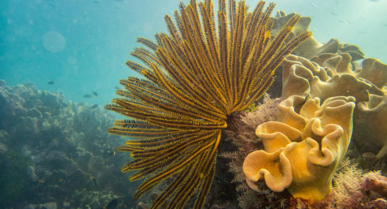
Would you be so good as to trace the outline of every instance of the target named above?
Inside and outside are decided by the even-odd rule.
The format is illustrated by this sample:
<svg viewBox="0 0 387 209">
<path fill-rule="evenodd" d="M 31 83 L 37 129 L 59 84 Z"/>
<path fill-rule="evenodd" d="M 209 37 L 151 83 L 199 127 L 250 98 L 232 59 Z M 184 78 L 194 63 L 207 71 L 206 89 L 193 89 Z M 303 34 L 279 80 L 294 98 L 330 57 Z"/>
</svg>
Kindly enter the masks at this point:
<svg viewBox="0 0 387 209">
<path fill-rule="evenodd" d="M 243 172 L 248 185 L 257 191 L 264 179 L 273 191 L 287 190 L 294 197 L 313 202 L 331 191 L 332 177 L 347 151 L 352 134 L 355 98 L 327 98 L 320 106 L 318 97 L 307 100 L 295 112 L 303 96 L 283 100 L 279 121 L 261 124 L 256 135 L 265 150 L 250 153 Z M 297 101 L 298 100 L 298 101 Z"/>
</svg>

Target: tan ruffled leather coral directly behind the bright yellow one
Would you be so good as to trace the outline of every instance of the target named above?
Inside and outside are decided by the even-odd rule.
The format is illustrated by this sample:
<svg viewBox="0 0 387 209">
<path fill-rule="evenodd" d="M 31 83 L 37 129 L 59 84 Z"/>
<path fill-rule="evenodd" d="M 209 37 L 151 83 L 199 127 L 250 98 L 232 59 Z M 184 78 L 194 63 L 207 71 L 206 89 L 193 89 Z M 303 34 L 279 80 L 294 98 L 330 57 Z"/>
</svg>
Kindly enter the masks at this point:
<svg viewBox="0 0 387 209">
<path fill-rule="evenodd" d="M 307 99 L 319 97 L 322 101 L 332 96 L 355 97 L 358 104 L 354 113 L 355 144 L 362 148 L 363 153 L 378 152 L 375 160 L 387 153 L 384 137 L 387 132 L 381 126 L 387 117 L 386 64 L 367 58 L 361 65 L 356 65 L 347 53 L 327 53 L 309 60 L 290 55 L 282 68 L 283 99 L 294 94 Z M 373 142 L 364 143 L 362 138 L 372 138 Z M 375 151 L 379 145 L 382 148 Z"/>
</svg>

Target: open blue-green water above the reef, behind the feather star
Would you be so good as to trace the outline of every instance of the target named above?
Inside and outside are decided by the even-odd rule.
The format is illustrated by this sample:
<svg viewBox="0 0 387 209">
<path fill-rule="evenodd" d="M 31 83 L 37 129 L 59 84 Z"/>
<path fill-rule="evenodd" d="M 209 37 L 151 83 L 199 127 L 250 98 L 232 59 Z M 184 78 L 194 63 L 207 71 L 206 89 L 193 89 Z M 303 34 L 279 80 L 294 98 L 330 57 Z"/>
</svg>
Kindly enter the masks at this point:
<svg viewBox="0 0 387 209">
<path fill-rule="evenodd" d="M 250 11 L 258 3 L 246 2 Z M 387 1 L 275 3 L 273 16 L 282 10 L 312 17 L 310 30 L 318 42 L 337 38 L 359 46 L 366 57 L 387 63 Z M 62 92 L 66 100 L 103 106 L 115 96 L 120 78 L 136 75 L 125 65 L 134 59 L 130 51 L 140 46 L 136 37 L 153 40 L 156 32 L 166 32 L 164 16 L 172 15 L 178 4 L 179 0 L 2 0 L 0 79 L 10 86 L 34 83 L 38 89 Z M 65 40 L 61 51 L 44 47 L 45 34 L 53 32 Z M 48 44 L 60 45 L 60 35 Z M 92 91 L 100 96 L 82 97 Z"/>
</svg>

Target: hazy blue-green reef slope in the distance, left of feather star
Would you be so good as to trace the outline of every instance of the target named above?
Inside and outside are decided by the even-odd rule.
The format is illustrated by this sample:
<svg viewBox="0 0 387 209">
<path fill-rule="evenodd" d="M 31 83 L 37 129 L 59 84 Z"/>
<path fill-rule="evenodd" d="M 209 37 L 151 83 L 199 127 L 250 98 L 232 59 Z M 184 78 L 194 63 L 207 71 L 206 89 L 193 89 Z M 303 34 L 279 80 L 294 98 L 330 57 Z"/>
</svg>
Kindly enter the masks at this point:
<svg viewBox="0 0 387 209">
<path fill-rule="evenodd" d="M 33 84 L 0 83 L 0 168 L 8 171 L 0 188 L 13 188 L 0 197 L 0 207 L 56 202 L 74 208 L 83 199 L 85 207 L 101 208 L 113 198 L 116 208 L 135 206 L 119 172 L 126 159 L 115 153 L 122 139 L 104 131 L 112 115 Z"/>
</svg>

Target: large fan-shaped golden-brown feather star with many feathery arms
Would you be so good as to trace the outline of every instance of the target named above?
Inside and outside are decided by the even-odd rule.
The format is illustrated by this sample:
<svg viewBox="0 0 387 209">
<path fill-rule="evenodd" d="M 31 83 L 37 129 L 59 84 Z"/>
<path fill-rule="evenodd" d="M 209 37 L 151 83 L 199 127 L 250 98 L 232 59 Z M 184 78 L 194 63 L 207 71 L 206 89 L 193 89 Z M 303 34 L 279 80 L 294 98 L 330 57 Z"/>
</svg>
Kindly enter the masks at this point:
<svg viewBox="0 0 387 209">
<path fill-rule="evenodd" d="M 122 172 L 137 170 L 131 181 L 146 178 L 135 198 L 172 177 L 151 208 L 166 200 L 168 208 L 183 208 L 193 194 L 194 207 L 203 207 L 227 118 L 258 99 L 283 58 L 311 36 L 305 32 L 284 43 L 300 19 L 296 15 L 271 38 L 274 4 L 264 5 L 248 13 L 244 1 L 237 6 L 230 0 L 226 12 L 219 0 L 216 24 L 212 1 L 191 0 L 180 3 L 175 23 L 165 16 L 169 35 L 156 34 L 156 43 L 138 38 L 147 48 L 131 55 L 145 65 L 126 64 L 144 78 L 121 79 L 125 89 L 105 108 L 130 118 L 117 120 L 109 133 L 130 138 L 118 150 L 133 158 Z"/>
</svg>

